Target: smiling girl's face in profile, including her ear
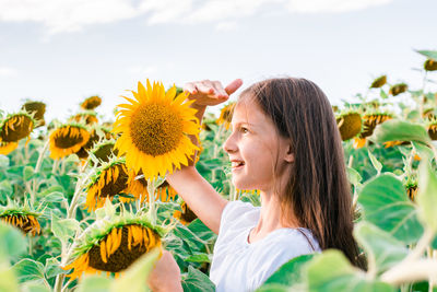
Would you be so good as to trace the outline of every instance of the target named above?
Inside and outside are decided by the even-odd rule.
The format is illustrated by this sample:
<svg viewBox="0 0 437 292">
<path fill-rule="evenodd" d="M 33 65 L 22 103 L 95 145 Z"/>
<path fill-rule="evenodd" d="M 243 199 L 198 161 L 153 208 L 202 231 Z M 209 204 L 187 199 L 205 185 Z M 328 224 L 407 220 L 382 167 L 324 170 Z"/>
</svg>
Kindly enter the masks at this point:
<svg viewBox="0 0 437 292">
<path fill-rule="evenodd" d="M 290 145 L 290 139 L 277 133 L 257 102 L 238 102 L 232 133 L 223 145 L 229 155 L 235 187 L 272 191 L 274 184 L 286 182 L 294 160 Z"/>
</svg>

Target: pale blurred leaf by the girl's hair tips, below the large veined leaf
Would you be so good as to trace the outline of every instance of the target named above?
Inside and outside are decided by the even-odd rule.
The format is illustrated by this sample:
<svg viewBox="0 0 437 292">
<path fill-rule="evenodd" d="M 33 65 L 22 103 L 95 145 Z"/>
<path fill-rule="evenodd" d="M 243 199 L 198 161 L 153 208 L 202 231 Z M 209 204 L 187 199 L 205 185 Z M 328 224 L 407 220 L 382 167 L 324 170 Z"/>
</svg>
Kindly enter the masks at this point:
<svg viewBox="0 0 437 292">
<path fill-rule="evenodd" d="M 355 225 L 354 235 L 366 250 L 371 272 L 382 273 L 409 254 L 402 242 L 366 221 Z"/>
</svg>

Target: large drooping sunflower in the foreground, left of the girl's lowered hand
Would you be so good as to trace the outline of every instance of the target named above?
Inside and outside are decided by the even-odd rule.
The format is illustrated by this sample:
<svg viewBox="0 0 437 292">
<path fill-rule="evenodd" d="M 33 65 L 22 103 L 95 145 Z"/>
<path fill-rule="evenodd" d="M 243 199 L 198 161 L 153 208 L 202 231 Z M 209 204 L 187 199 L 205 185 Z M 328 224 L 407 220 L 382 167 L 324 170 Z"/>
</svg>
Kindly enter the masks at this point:
<svg viewBox="0 0 437 292">
<path fill-rule="evenodd" d="M 82 273 L 107 272 L 118 277 L 138 258 L 152 248 L 162 248 L 162 237 L 166 230 L 154 226 L 144 217 L 135 217 L 129 212 L 111 217 L 110 221 L 96 221 L 78 242 L 72 260 L 62 267 L 73 269 L 68 275 L 71 280 Z"/>
</svg>

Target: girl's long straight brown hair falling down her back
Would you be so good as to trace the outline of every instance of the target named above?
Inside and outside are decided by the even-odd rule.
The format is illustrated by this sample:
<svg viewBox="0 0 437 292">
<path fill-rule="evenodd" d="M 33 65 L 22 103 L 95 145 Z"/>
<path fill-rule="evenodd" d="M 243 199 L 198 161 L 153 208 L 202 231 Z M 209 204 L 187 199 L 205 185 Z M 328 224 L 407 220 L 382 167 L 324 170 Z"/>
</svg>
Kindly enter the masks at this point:
<svg viewBox="0 0 437 292">
<path fill-rule="evenodd" d="M 292 140 L 294 162 L 285 191 L 279 194 L 283 222 L 298 220 L 320 248 L 342 250 L 365 268 L 353 237 L 350 183 L 336 121 L 324 93 L 306 79 L 255 83 L 241 94 L 257 101 L 279 133 Z M 294 217 L 294 218 L 292 218 Z"/>
</svg>

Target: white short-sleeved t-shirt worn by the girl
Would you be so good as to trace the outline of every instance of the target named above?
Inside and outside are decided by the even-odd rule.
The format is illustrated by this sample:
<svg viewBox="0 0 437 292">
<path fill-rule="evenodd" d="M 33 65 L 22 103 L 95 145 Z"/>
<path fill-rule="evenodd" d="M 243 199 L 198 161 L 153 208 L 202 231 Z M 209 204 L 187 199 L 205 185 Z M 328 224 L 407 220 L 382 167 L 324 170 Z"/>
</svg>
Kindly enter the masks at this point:
<svg viewBox="0 0 437 292">
<path fill-rule="evenodd" d="M 297 229 L 279 229 L 249 244 L 249 232 L 257 225 L 260 212 L 260 207 L 243 201 L 231 201 L 223 210 L 210 270 L 217 292 L 253 291 L 292 258 L 320 252 L 307 229 L 299 230 L 315 249 Z"/>
</svg>

